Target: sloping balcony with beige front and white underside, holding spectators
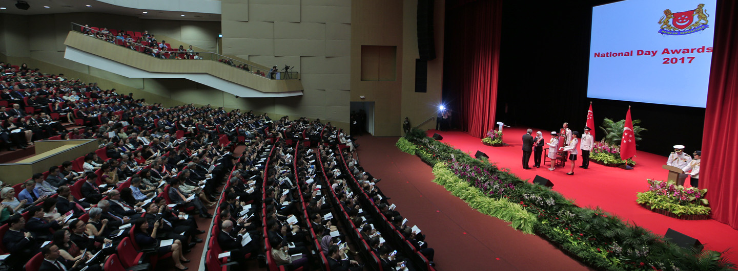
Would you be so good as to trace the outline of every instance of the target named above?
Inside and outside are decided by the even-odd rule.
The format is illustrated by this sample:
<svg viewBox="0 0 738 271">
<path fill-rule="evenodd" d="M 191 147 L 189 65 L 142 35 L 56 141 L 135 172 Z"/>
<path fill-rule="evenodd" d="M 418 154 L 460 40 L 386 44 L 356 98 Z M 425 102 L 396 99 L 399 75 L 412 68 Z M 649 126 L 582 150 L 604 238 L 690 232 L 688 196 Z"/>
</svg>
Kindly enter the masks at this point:
<svg viewBox="0 0 738 271">
<path fill-rule="evenodd" d="M 263 71 L 213 52 L 192 52 L 202 59 L 187 59 L 185 53 L 159 50 L 156 45 L 126 42 L 102 33 L 97 38 L 87 35 L 96 35 L 96 31 L 73 24 L 64 41 L 64 58 L 129 78 L 183 78 L 241 97 L 303 94 L 297 72 Z"/>
</svg>

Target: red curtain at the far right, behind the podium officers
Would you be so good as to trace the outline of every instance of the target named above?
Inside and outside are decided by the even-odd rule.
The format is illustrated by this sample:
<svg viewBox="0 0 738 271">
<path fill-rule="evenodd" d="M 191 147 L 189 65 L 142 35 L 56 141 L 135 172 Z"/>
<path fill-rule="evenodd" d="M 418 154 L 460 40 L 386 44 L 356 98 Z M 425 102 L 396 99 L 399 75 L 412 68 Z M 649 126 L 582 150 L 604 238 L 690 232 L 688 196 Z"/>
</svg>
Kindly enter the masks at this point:
<svg viewBox="0 0 738 271">
<path fill-rule="evenodd" d="M 713 219 L 738 229 L 738 1 L 718 0 L 703 131 L 700 188 Z"/>
</svg>

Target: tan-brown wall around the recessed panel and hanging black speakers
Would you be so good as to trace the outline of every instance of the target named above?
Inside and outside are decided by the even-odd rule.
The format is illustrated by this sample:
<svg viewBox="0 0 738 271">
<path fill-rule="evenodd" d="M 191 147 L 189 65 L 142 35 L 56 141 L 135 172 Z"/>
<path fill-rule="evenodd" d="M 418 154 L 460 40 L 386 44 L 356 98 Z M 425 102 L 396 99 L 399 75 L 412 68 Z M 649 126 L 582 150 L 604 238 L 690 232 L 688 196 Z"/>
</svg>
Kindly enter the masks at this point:
<svg viewBox="0 0 738 271">
<path fill-rule="evenodd" d="M 415 93 L 418 58 L 417 0 L 351 1 L 351 102 L 375 102 L 374 136 L 399 136 L 405 116 L 413 126 L 435 114 L 441 100 L 444 52 L 444 4 L 435 1 L 437 58 L 428 63 L 426 93 Z M 396 80 L 362 81 L 362 46 L 397 46 Z M 365 96 L 365 99 L 360 99 Z M 435 122 L 421 126 L 430 129 Z"/>
</svg>

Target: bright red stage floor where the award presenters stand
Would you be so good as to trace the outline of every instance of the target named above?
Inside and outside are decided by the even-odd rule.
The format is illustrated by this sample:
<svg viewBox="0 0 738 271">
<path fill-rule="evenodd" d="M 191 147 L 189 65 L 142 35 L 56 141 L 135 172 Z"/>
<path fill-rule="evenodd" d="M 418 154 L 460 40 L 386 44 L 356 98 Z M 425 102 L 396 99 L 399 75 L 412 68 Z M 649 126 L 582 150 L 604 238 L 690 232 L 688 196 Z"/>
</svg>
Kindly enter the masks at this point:
<svg viewBox="0 0 738 271">
<path fill-rule="evenodd" d="M 697 238 L 710 250 L 723 251 L 738 248 L 738 230 L 728 225 L 708 220 L 681 220 L 656 214 L 641 205 L 635 203 L 636 193 L 645 191 L 648 186 L 646 179 L 666 179 L 666 169 L 661 166 L 666 163 L 666 156 L 671 149 L 664 149 L 663 155 L 655 155 L 647 152 L 637 152 L 633 160 L 638 163 L 633 170 L 625 170 L 617 167 L 602 166 L 590 161 L 589 169 L 582 169 L 581 159 L 576 161 L 574 175 L 566 175 L 570 170 L 570 162 L 567 161 L 565 168 L 557 167 L 555 171 L 548 170 L 549 165 L 541 165 L 540 168 L 532 167 L 523 169 L 522 158 L 522 136 L 528 127 L 511 127 L 503 130 L 503 142 L 508 144 L 504 147 L 491 147 L 482 144 L 480 138 L 469 136 L 461 131 L 437 131 L 428 130 L 428 136 L 438 133 L 443 136 L 441 142 L 451 144 L 463 152 L 474 155 L 477 150 L 489 155 L 489 161 L 496 163 L 501 168 L 508 168 L 515 175 L 533 180 L 536 175 L 548 178 L 554 183 L 554 190 L 559 191 L 565 197 L 579 206 L 599 206 L 604 211 L 621 217 L 624 221 L 630 221 L 640 225 L 654 233 L 663 235 L 666 229 L 672 228 L 686 235 Z M 537 131 L 543 133 L 548 142 L 550 130 L 539 130 L 533 128 L 533 136 Z M 580 131 L 581 132 L 581 131 Z M 597 131 L 600 132 L 600 131 Z M 601 133 L 601 132 L 600 132 Z M 674 142 L 679 144 L 680 142 Z M 687 148 L 686 152 L 694 152 L 694 148 Z M 419 159 L 419 158 L 418 158 Z M 529 166 L 534 165 L 531 157 Z M 689 179 L 686 181 L 689 183 Z M 708 191 L 709 193 L 709 191 Z M 738 262 L 738 254 L 730 253 L 728 258 Z"/>
</svg>

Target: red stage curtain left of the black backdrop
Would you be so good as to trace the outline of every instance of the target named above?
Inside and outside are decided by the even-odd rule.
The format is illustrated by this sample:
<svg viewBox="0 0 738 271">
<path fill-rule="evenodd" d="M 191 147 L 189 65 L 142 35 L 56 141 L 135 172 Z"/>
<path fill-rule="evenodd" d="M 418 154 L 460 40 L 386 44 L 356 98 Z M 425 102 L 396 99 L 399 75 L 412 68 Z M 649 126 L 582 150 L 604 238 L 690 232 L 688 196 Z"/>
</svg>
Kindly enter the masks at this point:
<svg viewBox="0 0 738 271">
<path fill-rule="evenodd" d="M 455 127 L 482 138 L 496 122 L 503 1 L 448 2 L 444 102 Z"/>
</svg>

